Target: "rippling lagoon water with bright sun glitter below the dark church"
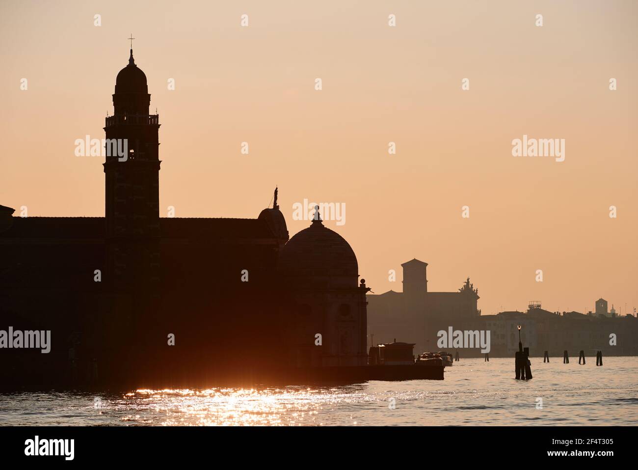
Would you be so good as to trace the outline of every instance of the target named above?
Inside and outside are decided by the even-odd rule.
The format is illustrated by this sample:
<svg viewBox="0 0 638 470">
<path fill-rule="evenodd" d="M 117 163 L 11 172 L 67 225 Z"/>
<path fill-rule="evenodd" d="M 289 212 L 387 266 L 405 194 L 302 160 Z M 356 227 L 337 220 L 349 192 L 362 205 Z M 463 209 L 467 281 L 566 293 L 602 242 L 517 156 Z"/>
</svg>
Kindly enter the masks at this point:
<svg viewBox="0 0 638 470">
<path fill-rule="evenodd" d="M 0 395 L 0 425 L 636 425 L 638 358 L 463 359 L 443 381 Z M 541 401 L 542 400 L 542 401 Z"/>
</svg>

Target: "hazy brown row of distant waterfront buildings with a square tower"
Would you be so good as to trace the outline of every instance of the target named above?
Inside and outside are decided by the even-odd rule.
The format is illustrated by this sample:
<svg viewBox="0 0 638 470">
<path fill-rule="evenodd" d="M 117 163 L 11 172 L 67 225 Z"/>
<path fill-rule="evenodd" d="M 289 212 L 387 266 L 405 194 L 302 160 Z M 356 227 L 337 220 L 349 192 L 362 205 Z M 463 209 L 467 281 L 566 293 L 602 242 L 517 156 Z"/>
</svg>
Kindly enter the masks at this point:
<svg viewBox="0 0 638 470">
<path fill-rule="evenodd" d="M 633 315 L 607 314 L 607 301 L 598 299 L 596 314 L 589 312 L 550 312 L 540 301 L 530 301 L 526 312 L 505 311 L 496 315 L 480 315 L 479 294 L 466 280 L 457 292 L 428 292 L 427 263 L 413 259 L 403 263 L 403 292 L 368 294 L 368 337 L 377 342 L 392 338 L 414 343 L 415 351 L 435 352 L 437 333 L 447 330 L 484 330 L 490 332 L 490 355 L 513 356 L 518 350 L 518 326 L 521 342 L 532 356 L 562 356 L 567 349 L 577 354 L 583 349 L 588 356 L 603 350 L 605 355 L 638 355 L 638 320 Z M 610 336 L 616 335 L 616 345 Z M 445 348 L 443 348 L 445 349 Z M 459 351 L 461 357 L 479 357 L 480 348 Z"/>
</svg>

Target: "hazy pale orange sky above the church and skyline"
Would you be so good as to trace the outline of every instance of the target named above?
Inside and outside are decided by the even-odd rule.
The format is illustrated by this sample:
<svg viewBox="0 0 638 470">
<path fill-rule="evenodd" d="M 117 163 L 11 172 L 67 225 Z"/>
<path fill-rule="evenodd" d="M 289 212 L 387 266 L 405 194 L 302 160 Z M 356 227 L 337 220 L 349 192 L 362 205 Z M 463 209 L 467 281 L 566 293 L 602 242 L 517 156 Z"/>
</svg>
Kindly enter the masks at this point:
<svg viewBox="0 0 638 470">
<path fill-rule="evenodd" d="M 104 137 L 132 32 L 162 124 L 161 216 L 253 218 L 279 185 L 291 234 L 308 226 L 293 203 L 346 204 L 345 225 L 325 224 L 376 293 L 401 291 L 400 264 L 417 257 L 431 291 L 470 276 L 484 314 L 530 300 L 587 311 L 601 296 L 624 314 L 638 308 L 637 13 L 632 1 L 6 1 L 0 204 L 103 216 L 103 160 L 73 142 Z M 565 139 L 565 161 L 515 158 L 524 134 Z"/>
</svg>

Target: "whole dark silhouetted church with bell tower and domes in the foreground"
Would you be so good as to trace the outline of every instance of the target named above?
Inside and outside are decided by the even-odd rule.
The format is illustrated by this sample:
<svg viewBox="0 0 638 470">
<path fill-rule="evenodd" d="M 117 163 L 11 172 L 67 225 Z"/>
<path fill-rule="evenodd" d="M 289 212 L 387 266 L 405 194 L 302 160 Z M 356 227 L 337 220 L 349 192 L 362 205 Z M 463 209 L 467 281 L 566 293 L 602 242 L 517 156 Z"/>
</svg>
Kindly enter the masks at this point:
<svg viewBox="0 0 638 470">
<path fill-rule="evenodd" d="M 350 245 L 318 216 L 288 240 L 275 191 L 254 219 L 159 217 L 150 101 L 131 49 L 104 127 L 107 139 L 128 142 L 125 159 L 103 163 L 105 217 L 23 218 L 0 206 L 0 316 L 15 329 L 52 330 L 50 354 L 25 362 L 13 350 L 13 372 L 365 365 L 369 289 Z"/>
</svg>

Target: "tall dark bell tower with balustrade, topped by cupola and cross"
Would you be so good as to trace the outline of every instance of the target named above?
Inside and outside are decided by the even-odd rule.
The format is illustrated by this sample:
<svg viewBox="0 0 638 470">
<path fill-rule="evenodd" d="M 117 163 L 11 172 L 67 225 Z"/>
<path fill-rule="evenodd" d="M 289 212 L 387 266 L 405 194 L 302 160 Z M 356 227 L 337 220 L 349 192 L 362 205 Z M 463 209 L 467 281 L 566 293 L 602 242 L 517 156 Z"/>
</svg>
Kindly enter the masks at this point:
<svg viewBox="0 0 638 470">
<path fill-rule="evenodd" d="M 104 172 L 108 268 L 116 286 L 136 289 L 159 280 L 159 117 L 149 114 L 150 103 L 131 47 L 115 79 L 114 115 L 104 127 L 121 147 L 119 139 L 126 139 L 127 155 L 107 152 Z"/>
</svg>

